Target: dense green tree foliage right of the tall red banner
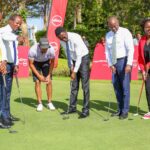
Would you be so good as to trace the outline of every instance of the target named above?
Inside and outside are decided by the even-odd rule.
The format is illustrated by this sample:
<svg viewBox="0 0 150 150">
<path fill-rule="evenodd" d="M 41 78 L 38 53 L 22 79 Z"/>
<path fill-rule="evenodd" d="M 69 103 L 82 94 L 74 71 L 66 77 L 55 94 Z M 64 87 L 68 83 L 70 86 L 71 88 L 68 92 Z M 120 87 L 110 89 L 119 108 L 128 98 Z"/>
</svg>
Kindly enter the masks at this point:
<svg viewBox="0 0 150 150">
<path fill-rule="evenodd" d="M 77 6 L 80 6 L 79 10 Z M 109 16 L 118 16 L 121 26 L 135 34 L 142 32 L 139 24 L 143 18 L 150 16 L 149 7 L 149 0 L 69 0 L 65 27 L 87 37 L 92 56 L 97 41 L 108 31 Z M 76 10 L 81 11 L 79 22 Z"/>
</svg>

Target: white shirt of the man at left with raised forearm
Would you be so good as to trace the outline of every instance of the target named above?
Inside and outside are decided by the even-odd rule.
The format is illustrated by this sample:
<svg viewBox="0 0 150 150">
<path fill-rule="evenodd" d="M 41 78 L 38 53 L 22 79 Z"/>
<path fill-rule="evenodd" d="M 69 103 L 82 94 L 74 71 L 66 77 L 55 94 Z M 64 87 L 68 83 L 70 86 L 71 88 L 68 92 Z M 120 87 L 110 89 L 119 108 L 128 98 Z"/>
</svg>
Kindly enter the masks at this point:
<svg viewBox="0 0 150 150">
<path fill-rule="evenodd" d="M 3 39 L 3 43 L 6 49 L 6 60 L 8 63 L 14 63 L 14 47 L 13 42 L 15 42 L 16 48 L 18 46 L 17 35 L 13 33 L 13 29 L 10 25 L 6 25 L 0 28 L 0 36 Z M 18 51 L 16 50 L 16 64 L 18 65 Z"/>
</svg>

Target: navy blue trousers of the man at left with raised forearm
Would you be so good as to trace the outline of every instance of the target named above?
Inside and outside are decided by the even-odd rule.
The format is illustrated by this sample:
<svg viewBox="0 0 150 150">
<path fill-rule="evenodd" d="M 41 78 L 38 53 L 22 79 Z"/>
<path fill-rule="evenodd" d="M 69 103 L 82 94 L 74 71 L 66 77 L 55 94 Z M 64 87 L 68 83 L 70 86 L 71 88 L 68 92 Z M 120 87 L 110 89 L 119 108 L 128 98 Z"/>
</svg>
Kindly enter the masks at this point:
<svg viewBox="0 0 150 150">
<path fill-rule="evenodd" d="M 13 72 L 14 72 L 14 65 L 7 64 L 7 74 L 5 75 L 6 80 L 6 88 L 4 87 L 4 81 L 2 74 L 0 74 L 0 111 L 1 116 L 3 118 L 9 118 L 10 116 L 10 96 L 11 96 L 11 89 L 12 89 L 12 81 L 13 81 Z"/>
</svg>

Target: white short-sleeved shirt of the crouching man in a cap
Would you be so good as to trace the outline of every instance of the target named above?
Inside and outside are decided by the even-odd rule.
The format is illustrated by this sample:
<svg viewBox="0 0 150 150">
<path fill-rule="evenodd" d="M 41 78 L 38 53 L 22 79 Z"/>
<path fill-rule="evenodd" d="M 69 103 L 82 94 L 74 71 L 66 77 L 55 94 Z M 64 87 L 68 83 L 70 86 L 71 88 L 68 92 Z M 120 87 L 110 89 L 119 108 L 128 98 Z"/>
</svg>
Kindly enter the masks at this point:
<svg viewBox="0 0 150 150">
<path fill-rule="evenodd" d="M 52 46 L 47 49 L 46 53 L 42 53 L 39 44 L 34 44 L 28 53 L 28 58 L 37 62 L 45 62 L 55 58 L 55 50 Z"/>
</svg>

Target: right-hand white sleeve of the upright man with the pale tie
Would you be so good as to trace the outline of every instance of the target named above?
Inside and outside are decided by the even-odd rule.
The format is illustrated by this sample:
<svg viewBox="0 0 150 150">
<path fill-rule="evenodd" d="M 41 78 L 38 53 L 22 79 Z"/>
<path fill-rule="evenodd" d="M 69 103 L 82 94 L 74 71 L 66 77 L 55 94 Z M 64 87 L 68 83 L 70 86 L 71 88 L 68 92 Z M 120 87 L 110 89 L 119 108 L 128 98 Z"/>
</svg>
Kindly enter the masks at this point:
<svg viewBox="0 0 150 150">
<path fill-rule="evenodd" d="M 127 65 L 131 65 L 133 63 L 133 55 L 134 55 L 134 44 L 131 33 L 127 30 L 125 34 L 125 47 L 127 50 L 128 61 Z"/>
</svg>

